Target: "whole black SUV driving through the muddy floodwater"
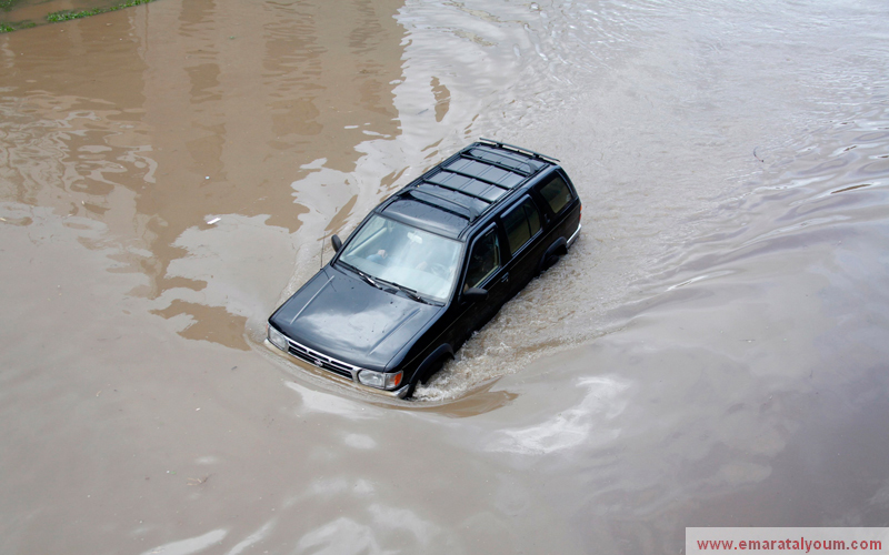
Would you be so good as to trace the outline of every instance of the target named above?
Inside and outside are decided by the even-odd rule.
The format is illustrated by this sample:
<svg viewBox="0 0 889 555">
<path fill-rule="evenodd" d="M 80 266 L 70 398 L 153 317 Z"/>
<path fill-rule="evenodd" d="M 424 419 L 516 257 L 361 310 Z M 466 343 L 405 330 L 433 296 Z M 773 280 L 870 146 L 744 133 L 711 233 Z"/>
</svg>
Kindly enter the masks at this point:
<svg viewBox="0 0 889 555">
<path fill-rule="evenodd" d="M 426 382 L 580 234 L 558 160 L 482 139 L 380 203 L 269 317 L 268 341 L 389 395 Z"/>
</svg>

